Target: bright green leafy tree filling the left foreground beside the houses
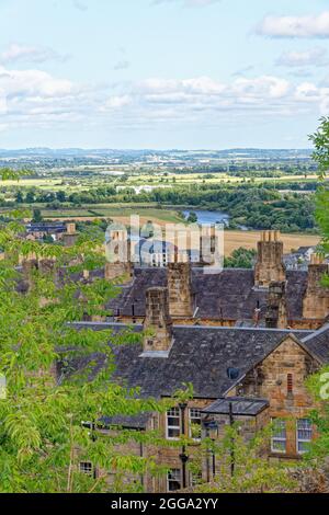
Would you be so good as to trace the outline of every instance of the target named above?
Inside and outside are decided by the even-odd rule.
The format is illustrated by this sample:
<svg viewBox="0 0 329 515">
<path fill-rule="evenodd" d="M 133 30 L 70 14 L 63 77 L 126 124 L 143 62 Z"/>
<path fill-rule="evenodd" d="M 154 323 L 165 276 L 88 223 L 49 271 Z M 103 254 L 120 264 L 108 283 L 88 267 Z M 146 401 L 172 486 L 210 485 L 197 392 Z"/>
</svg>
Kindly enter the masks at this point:
<svg viewBox="0 0 329 515">
<path fill-rule="evenodd" d="M 10 215 L 11 221 L 0 226 L 5 252 L 0 261 L 0 492 L 141 491 L 140 476 L 159 468 L 129 451 L 129 444 L 156 445 L 158 434 L 99 431 L 104 415 L 168 409 L 168 402 L 143 400 L 138 390 L 111 379 L 115 345 L 134 345 L 140 335 L 72 325 L 86 316 L 104 316 L 105 301 L 116 295 L 104 279 L 79 287 L 71 279 L 72 273 L 104 264 L 94 250 L 103 240 L 82 237 L 72 248 L 26 241 L 20 237 L 22 214 Z M 31 254 L 38 266 L 25 262 L 22 273 L 18 256 Z M 92 462 L 99 476 L 82 473 L 81 461 Z M 112 487 L 109 470 L 117 472 Z"/>
</svg>

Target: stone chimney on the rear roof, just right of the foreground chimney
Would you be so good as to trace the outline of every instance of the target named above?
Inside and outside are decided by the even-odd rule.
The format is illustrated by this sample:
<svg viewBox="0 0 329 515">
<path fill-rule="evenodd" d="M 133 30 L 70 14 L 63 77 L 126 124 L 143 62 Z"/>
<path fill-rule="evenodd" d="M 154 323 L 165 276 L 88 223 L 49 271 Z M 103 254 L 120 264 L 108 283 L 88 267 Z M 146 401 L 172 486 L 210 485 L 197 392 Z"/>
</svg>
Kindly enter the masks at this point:
<svg viewBox="0 0 329 515">
<path fill-rule="evenodd" d="M 191 318 L 194 312 L 192 268 L 188 255 L 185 262 L 168 263 L 169 312 L 171 317 Z"/>
</svg>

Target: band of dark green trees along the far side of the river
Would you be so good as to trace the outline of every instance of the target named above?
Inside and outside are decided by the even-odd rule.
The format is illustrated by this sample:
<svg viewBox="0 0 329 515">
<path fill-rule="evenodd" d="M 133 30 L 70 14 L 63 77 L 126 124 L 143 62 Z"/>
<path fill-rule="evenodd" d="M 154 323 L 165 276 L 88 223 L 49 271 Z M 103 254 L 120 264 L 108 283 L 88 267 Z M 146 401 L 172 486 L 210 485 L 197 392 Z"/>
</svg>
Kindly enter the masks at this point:
<svg viewBox="0 0 329 515">
<path fill-rule="evenodd" d="M 292 182 L 292 186 L 295 183 Z M 272 187 L 271 187 L 272 186 Z M 279 229 L 284 232 L 314 231 L 314 195 L 295 192 L 281 192 L 273 184 L 256 186 L 250 183 L 194 184 L 170 188 L 156 188 L 152 192 L 136 194 L 126 188 L 116 193 L 112 186 L 97 187 L 86 192 L 67 194 L 65 191 L 43 192 L 33 188 L 24 194 L 15 193 L 16 204 L 45 204 L 48 208 L 86 206 L 97 204 L 154 203 L 159 208 L 178 206 L 214 209 L 230 216 L 230 228 L 247 226 L 253 229 Z M 8 205 L 8 204 L 7 204 Z"/>
</svg>

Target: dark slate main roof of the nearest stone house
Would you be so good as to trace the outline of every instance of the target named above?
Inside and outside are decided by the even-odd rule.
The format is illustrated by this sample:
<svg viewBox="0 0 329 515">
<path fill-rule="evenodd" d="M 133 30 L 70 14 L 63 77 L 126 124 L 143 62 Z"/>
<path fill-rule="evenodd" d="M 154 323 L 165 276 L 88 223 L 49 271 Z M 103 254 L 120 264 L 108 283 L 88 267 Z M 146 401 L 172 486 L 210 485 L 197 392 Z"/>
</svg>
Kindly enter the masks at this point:
<svg viewBox="0 0 329 515">
<path fill-rule="evenodd" d="M 76 324 L 94 330 L 126 329 L 123 324 Z M 135 331 L 141 331 L 135 325 Z M 184 382 L 192 382 L 195 398 L 218 399 L 257 363 L 271 353 L 290 333 L 303 339 L 308 331 L 263 329 L 173 327 L 173 345 L 168 358 L 140 357 L 141 344 L 113 346 L 115 371 L 112 379 L 129 388 L 140 388 L 143 397 L 170 397 Z M 97 370 L 102 355 L 93 355 Z M 86 363 L 84 363 L 86 364 Z M 83 368 L 83 363 L 77 364 Z M 239 369 L 229 379 L 227 369 Z"/>
</svg>

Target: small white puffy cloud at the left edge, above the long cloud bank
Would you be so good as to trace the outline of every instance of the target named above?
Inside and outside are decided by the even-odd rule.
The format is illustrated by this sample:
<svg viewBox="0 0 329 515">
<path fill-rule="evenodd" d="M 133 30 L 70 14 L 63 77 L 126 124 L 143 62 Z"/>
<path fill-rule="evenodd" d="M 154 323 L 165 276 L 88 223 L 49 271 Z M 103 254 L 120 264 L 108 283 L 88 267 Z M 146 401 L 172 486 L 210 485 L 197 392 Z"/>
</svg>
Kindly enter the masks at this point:
<svg viewBox="0 0 329 515">
<path fill-rule="evenodd" d="M 0 54 L 0 62 L 45 62 L 47 60 L 65 61 L 68 56 L 61 56 L 53 48 L 44 48 L 37 46 L 27 46 L 13 43 Z"/>
</svg>

